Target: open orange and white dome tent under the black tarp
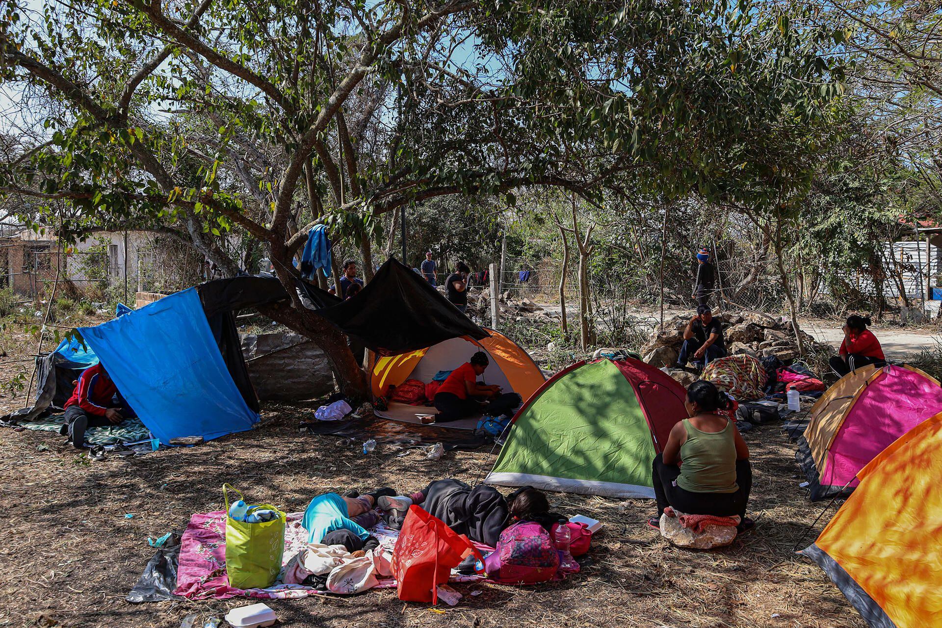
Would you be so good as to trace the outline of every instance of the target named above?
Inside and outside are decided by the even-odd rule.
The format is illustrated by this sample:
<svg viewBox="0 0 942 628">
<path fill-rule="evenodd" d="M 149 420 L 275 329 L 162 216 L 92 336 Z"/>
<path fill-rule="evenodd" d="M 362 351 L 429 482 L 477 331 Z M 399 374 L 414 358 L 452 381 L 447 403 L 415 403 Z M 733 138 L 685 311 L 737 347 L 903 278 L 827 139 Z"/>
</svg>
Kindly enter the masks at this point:
<svg viewBox="0 0 942 628">
<path fill-rule="evenodd" d="M 484 351 L 491 363 L 481 378 L 489 384 L 501 386 L 504 392 L 517 393 L 526 402 L 546 380 L 543 372 L 523 347 L 498 331 L 485 330 L 491 335 L 482 340 L 462 336 L 394 356 L 371 353 L 369 376 L 373 396 L 386 396 L 391 385 L 398 386 L 406 379 L 428 383 L 439 371 L 450 371 L 467 362 L 477 351 Z M 389 410 L 376 411 L 376 415 L 417 423 L 419 414 L 434 412 L 427 407 L 391 403 Z M 477 419 L 454 421 L 447 427 L 473 428 L 471 423 L 477 425 Z"/>
</svg>

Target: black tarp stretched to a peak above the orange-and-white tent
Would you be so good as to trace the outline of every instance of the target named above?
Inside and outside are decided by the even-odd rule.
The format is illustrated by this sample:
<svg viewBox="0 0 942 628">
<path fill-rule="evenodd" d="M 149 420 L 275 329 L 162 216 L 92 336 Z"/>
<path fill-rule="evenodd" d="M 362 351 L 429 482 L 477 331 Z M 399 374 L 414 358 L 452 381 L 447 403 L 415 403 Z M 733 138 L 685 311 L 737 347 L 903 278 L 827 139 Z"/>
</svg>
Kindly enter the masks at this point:
<svg viewBox="0 0 942 628">
<path fill-rule="evenodd" d="M 449 338 L 481 340 L 488 335 L 412 268 L 394 259 L 355 297 L 315 312 L 383 355 L 427 348 Z"/>
</svg>

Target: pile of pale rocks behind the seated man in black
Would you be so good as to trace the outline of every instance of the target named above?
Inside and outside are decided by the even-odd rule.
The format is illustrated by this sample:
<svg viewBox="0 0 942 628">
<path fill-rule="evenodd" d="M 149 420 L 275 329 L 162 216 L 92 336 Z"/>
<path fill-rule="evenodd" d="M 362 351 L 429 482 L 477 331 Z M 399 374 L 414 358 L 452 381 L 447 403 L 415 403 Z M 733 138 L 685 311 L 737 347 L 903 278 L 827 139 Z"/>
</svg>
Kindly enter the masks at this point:
<svg viewBox="0 0 942 628">
<path fill-rule="evenodd" d="M 743 312 L 741 314 L 721 314 L 723 339 L 726 352 L 730 355 L 744 353 L 754 358 L 775 356 L 785 363 L 793 362 L 798 357 L 798 344 L 792 330 L 791 321 L 776 318 L 761 312 Z M 673 367 L 677 362 L 680 346 L 684 343 L 684 328 L 690 318 L 674 316 L 658 325 L 651 339 L 642 347 L 644 362 L 658 367 Z M 831 346 L 815 341 L 813 337 L 798 330 L 805 351 L 833 351 Z"/>
</svg>

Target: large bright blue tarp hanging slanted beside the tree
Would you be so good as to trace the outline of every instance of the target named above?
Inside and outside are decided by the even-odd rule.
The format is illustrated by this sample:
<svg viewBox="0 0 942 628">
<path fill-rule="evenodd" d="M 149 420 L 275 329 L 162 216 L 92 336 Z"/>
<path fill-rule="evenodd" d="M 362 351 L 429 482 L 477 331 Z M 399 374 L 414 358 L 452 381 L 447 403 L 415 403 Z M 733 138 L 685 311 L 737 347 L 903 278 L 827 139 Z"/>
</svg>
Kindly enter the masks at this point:
<svg viewBox="0 0 942 628">
<path fill-rule="evenodd" d="M 252 428 L 196 288 L 79 330 L 138 417 L 160 439 L 214 439 Z"/>
</svg>

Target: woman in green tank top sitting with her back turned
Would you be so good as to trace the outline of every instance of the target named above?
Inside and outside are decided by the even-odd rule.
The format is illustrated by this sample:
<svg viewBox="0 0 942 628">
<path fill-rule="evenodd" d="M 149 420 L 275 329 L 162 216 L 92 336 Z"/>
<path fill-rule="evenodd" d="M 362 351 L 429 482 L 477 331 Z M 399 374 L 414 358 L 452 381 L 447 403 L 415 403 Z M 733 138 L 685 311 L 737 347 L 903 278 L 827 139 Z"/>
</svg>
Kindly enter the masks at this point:
<svg viewBox="0 0 942 628">
<path fill-rule="evenodd" d="M 690 418 L 674 425 L 664 453 L 654 460 L 658 517 L 648 522 L 653 527 L 668 506 L 693 515 L 739 515 L 740 531 L 752 526 L 745 516 L 753 482 L 749 448 L 736 424 L 719 413 L 730 403 L 712 382 L 690 384 L 684 401 Z"/>
</svg>

